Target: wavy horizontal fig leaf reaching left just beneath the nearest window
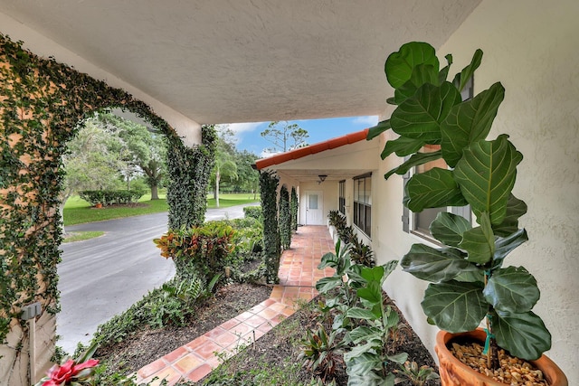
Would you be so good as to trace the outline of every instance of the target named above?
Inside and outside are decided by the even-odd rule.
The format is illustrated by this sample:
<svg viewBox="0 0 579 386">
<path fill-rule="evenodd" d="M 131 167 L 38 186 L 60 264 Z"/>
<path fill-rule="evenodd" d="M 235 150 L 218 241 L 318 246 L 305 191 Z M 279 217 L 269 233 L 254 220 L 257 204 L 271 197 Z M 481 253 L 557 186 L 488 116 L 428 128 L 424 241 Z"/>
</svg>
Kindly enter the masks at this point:
<svg viewBox="0 0 579 386">
<path fill-rule="evenodd" d="M 400 265 L 404 272 L 416 278 L 439 283 L 449 281 L 467 270 L 477 269 L 467 260 L 460 249 L 434 249 L 424 244 L 413 244 Z"/>
</svg>

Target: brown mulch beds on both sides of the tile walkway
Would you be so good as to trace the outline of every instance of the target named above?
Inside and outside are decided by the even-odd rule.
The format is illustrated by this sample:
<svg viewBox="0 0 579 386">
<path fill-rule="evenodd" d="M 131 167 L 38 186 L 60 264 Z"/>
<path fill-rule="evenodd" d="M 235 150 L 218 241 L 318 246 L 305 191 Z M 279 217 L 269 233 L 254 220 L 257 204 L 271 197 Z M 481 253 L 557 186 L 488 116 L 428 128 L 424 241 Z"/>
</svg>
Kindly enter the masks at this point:
<svg viewBox="0 0 579 386">
<path fill-rule="evenodd" d="M 108 362 L 109 370 L 124 373 L 136 372 L 144 365 L 156 361 L 166 353 L 176 350 L 176 348 L 191 342 L 215 326 L 221 325 L 252 306 L 261 303 L 270 297 L 270 293 L 271 287 L 266 286 L 231 284 L 222 287 L 214 298 L 199 306 L 195 317 L 191 317 L 184 327 L 168 326 L 164 329 L 153 330 L 143 326 L 138 333 L 131 335 L 119 344 L 100 347 L 95 357 Z M 318 299 L 314 299 L 314 302 L 317 301 Z M 390 299 L 386 301 L 397 310 Z M 303 367 L 295 372 L 295 363 L 301 362 L 299 360 L 299 353 L 301 353 L 299 342 L 308 329 L 316 327 L 312 308 L 303 307 L 299 312 L 289 316 L 280 325 L 274 327 L 268 334 L 262 336 L 255 344 L 228 360 L 225 372 L 245 374 L 239 379 L 242 382 L 239 384 L 270 385 L 271 383 L 252 380 L 252 370 L 258 366 L 280 369 L 280 365 L 282 367 L 285 365 L 283 363 L 287 363 L 288 366 L 292 366 L 293 363 L 292 384 L 308 385 L 312 379 L 312 373 Z M 403 315 L 401 315 L 398 342 L 392 347 L 392 351 L 393 353 L 408 353 L 409 361 L 437 369 L 431 354 L 424 347 L 420 338 L 413 333 Z M 392 366 L 389 370 L 393 371 L 395 368 Z M 338 363 L 334 377 L 338 386 L 347 384 L 346 368 L 343 363 Z M 195 384 L 201 385 L 203 380 Z M 398 384 L 412 385 L 409 381 Z M 440 385 L 440 381 L 429 381 L 426 384 Z M 234 385 L 232 384 L 232 386 Z"/>
</svg>

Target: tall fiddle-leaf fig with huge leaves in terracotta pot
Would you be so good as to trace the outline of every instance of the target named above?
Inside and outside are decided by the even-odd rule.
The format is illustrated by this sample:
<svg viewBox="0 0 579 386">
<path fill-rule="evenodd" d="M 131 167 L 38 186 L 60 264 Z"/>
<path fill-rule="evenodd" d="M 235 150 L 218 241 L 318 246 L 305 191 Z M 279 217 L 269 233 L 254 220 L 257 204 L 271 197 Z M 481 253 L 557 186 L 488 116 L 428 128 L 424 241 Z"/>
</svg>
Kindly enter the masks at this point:
<svg viewBox="0 0 579 386">
<path fill-rule="evenodd" d="M 475 52 L 452 81 L 447 80 L 452 57 L 445 59 L 441 69 L 435 50 L 424 42 L 404 44 L 388 57 L 384 71 L 394 88 L 388 103 L 397 108 L 389 120 L 370 129 L 368 138 L 388 129 L 399 136 L 386 142 L 382 157 L 394 153 L 405 161 L 386 173 L 386 179 L 435 160 L 448 165 L 408 180 L 404 205 L 411 211 L 470 205 L 477 223 L 472 226 L 459 215 L 440 212 L 430 231 L 441 248 L 414 244 L 401 265 L 430 282 L 422 300 L 430 323 L 459 334 L 477 330 L 484 320 L 489 369 L 498 367 L 499 348 L 534 361 L 551 347 L 545 324 L 531 311 L 539 299 L 536 279 L 523 267 L 505 265 L 508 253 L 527 241 L 527 232 L 518 228 L 527 205 L 511 193 L 523 155 L 507 135 L 487 139 L 505 89 L 497 82 L 462 100 L 460 92 L 479 67 L 482 52 Z M 436 150 L 424 152 L 424 146 Z M 437 347 L 439 357 L 444 349 Z M 441 359 L 443 384 L 494 384 L 489 379 L 471 381 L 470 375 L 454 383 L 458 370 L 446 369 L 447 362 Z M 562 373 L 546 377 L 563 380 L 549 379 L 550 384 L 567 384 Z"/>
</svg>

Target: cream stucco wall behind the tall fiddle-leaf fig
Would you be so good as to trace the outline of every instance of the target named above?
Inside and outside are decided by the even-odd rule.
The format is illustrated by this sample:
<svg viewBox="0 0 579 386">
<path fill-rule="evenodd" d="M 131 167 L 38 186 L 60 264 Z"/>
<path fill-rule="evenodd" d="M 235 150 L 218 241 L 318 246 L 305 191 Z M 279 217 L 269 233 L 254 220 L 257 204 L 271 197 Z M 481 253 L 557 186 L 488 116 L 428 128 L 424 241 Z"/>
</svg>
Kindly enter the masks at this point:
<svg viewBox="0 0 579 386">
<path fill-rule="evenodd" d="M 508 133 L 525 156 L 514 193 L 527 202 L 521 225 L 529 235 L 506 264 L 525 266 L 536 277 L 541 299 L 534 311 L 553 334 L 547 355 L 571 384 L 579 381 L 578 15 L 579 2 L 574 0 L 483 1 L 439 50 L 441 57 L 452 53 L 454 73 L 481 48 L 475 92 L 496 81 L 505 86 L 505 101 L 489 137 Z M 399 161 L 386 160 L 383 169 L 394 163 Z M 379 185 L 382 220 L 374 247 L 381 261 L 400 258 L 415 241 L 401 231 L 402 179 L 392 180 Z M 426 324 L 420 307 L 424 287 L 399 270 L 386 284 L 423 342 L 432 347 L 436 330 Z"/>
</svg>

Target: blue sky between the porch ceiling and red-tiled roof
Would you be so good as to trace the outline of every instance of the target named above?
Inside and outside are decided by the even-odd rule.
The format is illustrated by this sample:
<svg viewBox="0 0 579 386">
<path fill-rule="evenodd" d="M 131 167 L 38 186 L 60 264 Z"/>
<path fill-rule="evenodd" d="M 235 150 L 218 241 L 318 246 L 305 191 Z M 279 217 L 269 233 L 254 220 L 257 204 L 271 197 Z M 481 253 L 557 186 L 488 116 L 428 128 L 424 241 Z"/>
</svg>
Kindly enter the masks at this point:
<svg viewBox="0 0 579 386">
<path fill-rule="evenodd" d="M 308 145 L 317 144 L 330 138 L 341 137 L 373 127 L 378 123 L 377 116 L 348 117 L 348 118 L 322 118 L 291 120 L 289 124 L 296 123 L 299 127 L 308 131 L 306 141 Z M 268 128 L 270 122 L 233 123 L 229 127 L 235 133 L 237 150 L 247 150 L 260 157 L 266 156 L 263 149 L 272 147 L 271 143 L 261 137 L 261 132 Z"/>
</svg>

